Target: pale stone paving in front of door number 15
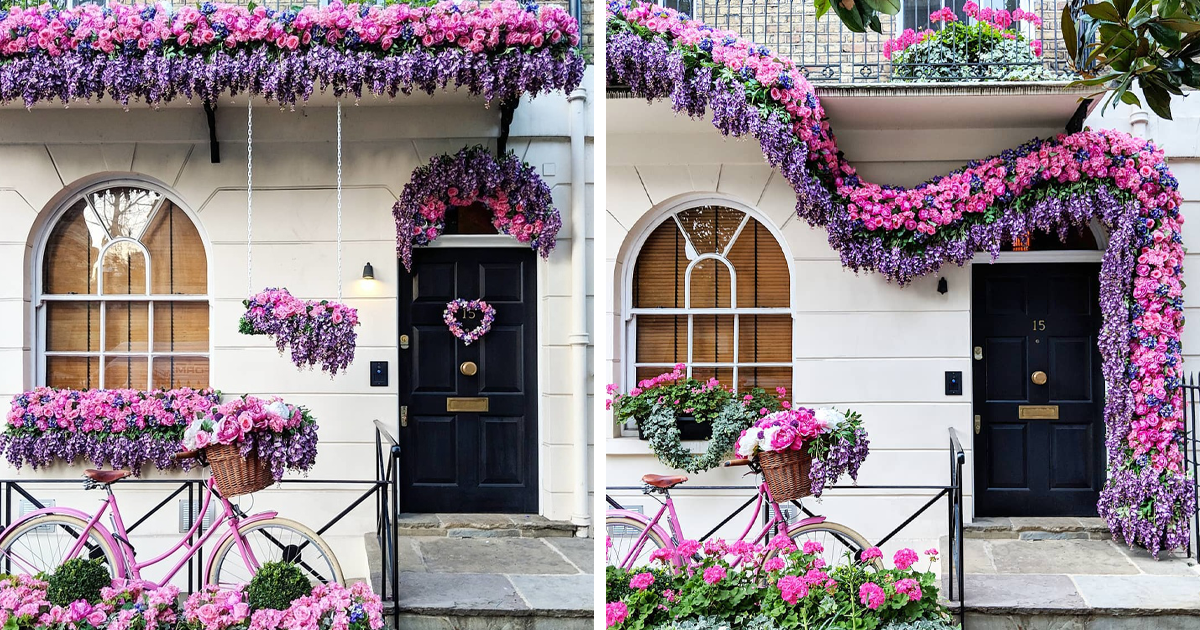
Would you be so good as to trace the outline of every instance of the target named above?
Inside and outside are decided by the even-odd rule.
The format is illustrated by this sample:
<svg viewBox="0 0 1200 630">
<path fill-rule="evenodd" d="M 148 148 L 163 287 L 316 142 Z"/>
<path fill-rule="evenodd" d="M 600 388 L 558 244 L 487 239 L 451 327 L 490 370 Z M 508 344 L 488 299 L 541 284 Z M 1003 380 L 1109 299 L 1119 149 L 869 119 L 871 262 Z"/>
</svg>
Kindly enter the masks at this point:
<svg viewBox="0 0 1200 630">
<path fill-rule="evenodd" d="M 1196 562 L 1156 560 L 1094 520 L 977 520 L 962 556 L 971 630 L 1200 629 Z"/>
</svg>

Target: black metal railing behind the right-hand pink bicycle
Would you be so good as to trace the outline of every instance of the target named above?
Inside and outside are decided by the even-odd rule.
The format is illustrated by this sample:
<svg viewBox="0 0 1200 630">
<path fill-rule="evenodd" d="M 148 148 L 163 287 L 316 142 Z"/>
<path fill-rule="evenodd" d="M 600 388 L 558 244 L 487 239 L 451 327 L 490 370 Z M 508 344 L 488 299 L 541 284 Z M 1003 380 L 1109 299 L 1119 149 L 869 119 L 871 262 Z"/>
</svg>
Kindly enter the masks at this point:
<svg viewBox="0 0 1200 630">
<path fill-rule="evenodd" d="M 943 576 L 944 583 L 947 584 L 946 600 L 952 604 L 958 604 L 958 614 L 962 619 L 962 628 L 966 628 L 966 619 L 964 617 L 964 602 L 966 598 L 964 596 L 965 584 L 964 584 L 964 566 L 962 566 L 962 517 L 964 517 L 964 505 L 962 505 L 962 466 L 966 463 L 966 454 L 962 450 L 962 444 L 959 442 L 958 432 L 954 427 L 949 428 L 949 464 L 950 464 L 950 476 L 949 484 L 944 486 L 828 486 L 826 491 L 829 490 L 841 490 L 841 491 L 922 491 L 922 492 L 935 492 L 935 494 L 926 500 L 920 508 L 910 514 L 900 524 L 892 529 L 886 536 L 881 538 L 872 544 L 877 547 L 882 547 L 889 540 L 896 536 L 906 527 L 908 527 L 913 521 L 919 518 L 923 514 L 929 511 L 934 505 L 941 502 L 943 498 L 947 503 L 947 539 L 948 539 L 948 553 L 950 556 L 948 563 L 948 574 Z M 642 491 L 643 486 L 608 486 L 606 491 Z M 709 491 L 756 491 L 758 486 L 698 486 L 698 485 L 679 485 L 671 488 L 671 492 L 689 491 L 689 492 L 709 492 Z M 622 504 L 614 499 L 611 494 L 605 494 L 605 500 L 610 506 L 617 510 L 623 510 Z M 755 497 L 750 500 L 743 503 L 740 508 L 728 515 L 720 524 L 710 529 L 707 534 L 701 536 L 698 540 L 704 541 L 712 538 L 718 530 L 721 529 L 726 523 L 728 523 L 738 514 L 750 508 L 756 502 Z M 808 508 L 802 505 L 799 502 L 791 502 L 797 509 L 800 510 L 805 516 L 816 516 L 816 514 L 809 511 Z M 767 514 L 768 506 L 763 506 L 763 518 L 768 518 Z M 853 527 L 853 523 L 846 523 Z M 679 542 L 679 541 L 676 541 Z"/>
</svg>

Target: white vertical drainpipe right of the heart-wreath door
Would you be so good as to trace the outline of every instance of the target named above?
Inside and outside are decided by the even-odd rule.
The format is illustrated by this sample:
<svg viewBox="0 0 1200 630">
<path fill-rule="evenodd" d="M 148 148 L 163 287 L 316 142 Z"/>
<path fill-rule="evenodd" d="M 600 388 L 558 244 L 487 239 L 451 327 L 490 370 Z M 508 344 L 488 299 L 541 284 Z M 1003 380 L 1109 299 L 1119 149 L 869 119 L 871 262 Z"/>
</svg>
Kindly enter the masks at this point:
<svg viewBox="0 0 1200 630">
<path fill-rule="evenodd" d="M 588 457 L 588 286 L 587 286 L 587 132 L 588 91 L 577 88 L 568 97 L 571 108 L 571 460 L 575 462 L 575 506 L 571 521 L 586 533 L 592 524 L 588 479 L 592 458 Z"/>
</svg>

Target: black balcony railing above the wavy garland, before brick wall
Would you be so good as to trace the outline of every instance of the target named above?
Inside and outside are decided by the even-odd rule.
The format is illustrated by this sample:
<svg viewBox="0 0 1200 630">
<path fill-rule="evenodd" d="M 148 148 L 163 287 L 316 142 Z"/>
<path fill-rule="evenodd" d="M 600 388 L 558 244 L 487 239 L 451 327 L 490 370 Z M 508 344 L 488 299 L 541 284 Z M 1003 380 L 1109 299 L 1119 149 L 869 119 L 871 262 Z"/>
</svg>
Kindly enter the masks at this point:
<svg viewBox="0 0 1200 630">
<path fill-rule="evenodd" d="M 932 61 L 893 64 L 884 55 L 884 43 L 905 29 L 920 31 L 929 16 L 942 8 L 967 22 L 968 0 L 904 0 L 895 16 L 881 16 L 882 35 L 856 34 L 830 11 L 820 20 L 812 0 L 659 0 L 660 4 L 725 30 L 732 30 L 781 56 L 794 61 L 812 83 L 883 82 L 978 82 L 978 80 L 1066 80 L 1073 78 L 1058 25 L 1068 0 L 974 0 L 982 7 L 1036 14 L 1040 25 L 1022 22 L 1010 30 L 1032 42 L 1040 42 L 1040 58 L 1013 61 L 1006 55 L 995 60 Z M 1070 2 L 1081 5 L 1080 1 Z M 937 25 L 935 24 L 935 30 Z M 974 42 L 961 42 L 962 47 Z M 936 55 L 935 55 L 936 56 Z M 952 55 L 954 56 L 954 55 Z"/>
</svg>

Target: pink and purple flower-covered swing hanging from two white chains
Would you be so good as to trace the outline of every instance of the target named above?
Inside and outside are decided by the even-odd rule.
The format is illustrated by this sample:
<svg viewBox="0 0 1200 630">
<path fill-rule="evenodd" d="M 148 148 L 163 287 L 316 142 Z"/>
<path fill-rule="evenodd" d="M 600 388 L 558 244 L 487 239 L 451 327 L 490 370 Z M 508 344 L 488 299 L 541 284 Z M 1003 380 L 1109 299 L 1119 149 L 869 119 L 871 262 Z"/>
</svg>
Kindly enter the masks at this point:
<svg viewBox="0 0 1200 630">
<path fill-rule="evenodd" d="M 320 368 L 330 377 L 354 361 L 359 312 L 328 300 L 304 301 L 288 289 L 263 289 L 242 300 L 246 313 L 238 323 L 242 335 L 270 335 L 282 354 L 292 347 L 296 367 Z"/>
</svg>

